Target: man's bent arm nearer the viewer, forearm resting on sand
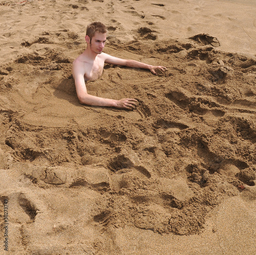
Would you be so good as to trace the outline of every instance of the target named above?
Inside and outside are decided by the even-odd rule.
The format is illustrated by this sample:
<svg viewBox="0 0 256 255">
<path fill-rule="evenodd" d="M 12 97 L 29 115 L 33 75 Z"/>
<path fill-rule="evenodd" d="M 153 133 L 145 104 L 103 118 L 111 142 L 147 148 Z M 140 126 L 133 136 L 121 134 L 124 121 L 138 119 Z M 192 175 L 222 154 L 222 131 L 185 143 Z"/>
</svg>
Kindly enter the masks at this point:
<svg viewBox="0 0 256 255">
<path fill-rule="evenodd" d="M 114 100 L 89 95 L 87 92 L 86 83 L 84 81 L 84 72 L 83 68 L 81 67 L 81 63 L 74 61 L 72 71 L 73 78 L 75 80 L 76 94 L 81 104 L 115 107 L 118 109 L 127 110 L 133 110 L 136 108 L 138 102 L 136 99 L 124 98 L 121 100 Z"/>
</svg>

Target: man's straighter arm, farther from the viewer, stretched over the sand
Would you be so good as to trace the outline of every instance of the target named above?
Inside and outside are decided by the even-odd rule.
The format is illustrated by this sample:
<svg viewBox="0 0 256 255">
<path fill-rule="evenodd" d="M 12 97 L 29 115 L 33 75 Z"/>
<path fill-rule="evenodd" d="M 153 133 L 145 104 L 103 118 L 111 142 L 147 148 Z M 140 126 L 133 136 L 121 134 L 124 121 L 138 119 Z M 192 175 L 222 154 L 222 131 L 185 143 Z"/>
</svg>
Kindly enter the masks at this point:
<svg viewBox="0 0 256 255">
<path fill-rule="evenodd" d="M 149 65 L 136 60 L 116 58 L 108 54 L 105 54 L 105 63 L 114 64 L 114 65 L 123 65 L 127 67 L 132 67 L 132 68 L 148 69 L 154 75 L 157 74 L 156 73 L 157 69 L 160 69 L 162 72 L 165 72 L 165 70 L 167 69 L 165 66 Z"/>
</svg>

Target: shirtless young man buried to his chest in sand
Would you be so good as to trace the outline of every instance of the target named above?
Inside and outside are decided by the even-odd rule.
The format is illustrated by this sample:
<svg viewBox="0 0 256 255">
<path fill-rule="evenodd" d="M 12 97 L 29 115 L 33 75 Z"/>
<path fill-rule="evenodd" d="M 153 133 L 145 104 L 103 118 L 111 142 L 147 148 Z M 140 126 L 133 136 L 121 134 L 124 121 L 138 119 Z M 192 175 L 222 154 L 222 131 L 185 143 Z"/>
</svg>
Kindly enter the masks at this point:
<svg viewBox="0 0 256 255">
<path fill-rule="evenodd" d="M 93 22 L 87 27 L 87 49 L 73 62 L 72 72 L 77 97 L 81 104 L 133 110 L 138 103 L 136 99 L 123 98 L 114 100 L 89 95 L 85 81 L 98 79 L 103 73 L 104 63 L 149 69 L 153 74 L 156 74 L 156 69 L 165 71 L 166 67 L 148 65 L 135 60 L 116 58 L 102 53 L 106 41 L 106 32 L 107 29 L 101 22 Z"/>
</svg>

